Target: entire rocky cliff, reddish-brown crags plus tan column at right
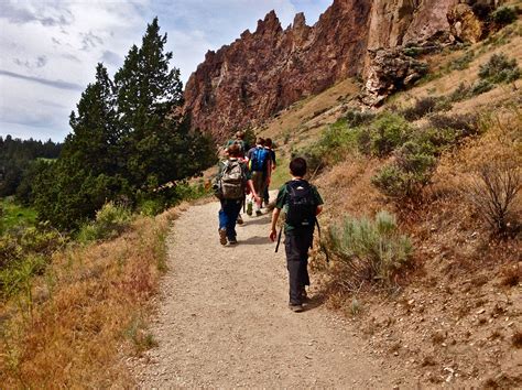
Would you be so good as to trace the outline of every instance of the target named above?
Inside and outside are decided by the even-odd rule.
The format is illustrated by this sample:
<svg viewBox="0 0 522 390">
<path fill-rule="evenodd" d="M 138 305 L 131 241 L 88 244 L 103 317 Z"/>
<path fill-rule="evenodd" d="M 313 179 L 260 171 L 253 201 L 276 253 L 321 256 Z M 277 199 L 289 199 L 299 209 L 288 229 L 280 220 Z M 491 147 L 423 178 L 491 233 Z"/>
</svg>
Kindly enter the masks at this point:
<svg viewBox="0 0 522 390">
<path fill-rule="evenodd" d="M 448 19 L 458 3 L 334 0 L 315 25 L 306 25 L 300 13 L 285 30 L 272 11 L 258 22 L 253 33 L 247 30 L 232 44 L 208 52 L 191 76 L 185 108 L 192 113 L 193 127 L 219 139 L 356 75 L 368 79 L 367 85 L 373 88 L 368 101 L 378 104 L 390 90 L 382 80 L 393 79 L 389 72 L 383 75 L 383 64 L 395 64 L 395 57 L 403 57 L 396 47 L 434 37 L 455 40 L 457 23 L 459 31 L 470 34 L 463 23 L 475 21 L 469 14 L 466 21 L 461 17 L 469 6 L 464 6 L 452 23 Z M 379 53 L 383 48 L 393 50 Z M 416 72 L 422 68 L 410 58 L 395 65 L 401 77 L 410 82 L 420 76 Z"/>
</svg>

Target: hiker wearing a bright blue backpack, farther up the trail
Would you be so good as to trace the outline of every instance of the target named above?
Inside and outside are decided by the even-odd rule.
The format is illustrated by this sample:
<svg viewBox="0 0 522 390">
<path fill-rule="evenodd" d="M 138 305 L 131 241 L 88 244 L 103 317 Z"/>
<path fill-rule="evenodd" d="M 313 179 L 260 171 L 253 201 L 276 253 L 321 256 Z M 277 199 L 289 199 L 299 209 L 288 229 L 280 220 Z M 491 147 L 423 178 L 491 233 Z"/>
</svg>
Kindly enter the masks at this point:
<svg viewBox="0 0 522 390">
<path fill-rule="evenodd" d="M 249 160 L 250 171 L 252 173 L 252 182 L 253 187 L 255 188 L 255 193 L 260 196 L 263 196 L 264 188 L 267 187 L 267 183 L 270 180 L 272 163 L 270 161 L 270 153 L 267 149 L 264 149 L 264 140 L 262 138 L 258 138 L 255 141 L 255 147 L 250 149 L 247 153 L 247 159 Z M 261 206 L 263 199 L 258 198 L 255 202 L 255 215 L 260 216 Z M 249 213 L 250 212 L 250 213 Z M 251 203 L 249 202 L 247 214 L 251 215 Z"/>
</svg>

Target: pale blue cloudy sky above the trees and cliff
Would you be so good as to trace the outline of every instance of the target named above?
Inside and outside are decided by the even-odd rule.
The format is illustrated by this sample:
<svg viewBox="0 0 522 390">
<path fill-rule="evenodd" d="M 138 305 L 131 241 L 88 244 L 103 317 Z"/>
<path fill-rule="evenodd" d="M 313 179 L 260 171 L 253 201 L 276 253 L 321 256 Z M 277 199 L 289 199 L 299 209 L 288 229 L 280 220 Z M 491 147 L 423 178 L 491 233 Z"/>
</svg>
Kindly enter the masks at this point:
<svg viewBox="0 0 522 390">
<path fill-rule="evenodd" d="M 304 12 L 314 24 L 333 0 L 0 0 L 0 136 L 63 141 L 94 82 L 113 76 L 159 17 L 184 84 L 208 50 L 254 31 L 275 10 L 283 28 Z"/>
</svg>

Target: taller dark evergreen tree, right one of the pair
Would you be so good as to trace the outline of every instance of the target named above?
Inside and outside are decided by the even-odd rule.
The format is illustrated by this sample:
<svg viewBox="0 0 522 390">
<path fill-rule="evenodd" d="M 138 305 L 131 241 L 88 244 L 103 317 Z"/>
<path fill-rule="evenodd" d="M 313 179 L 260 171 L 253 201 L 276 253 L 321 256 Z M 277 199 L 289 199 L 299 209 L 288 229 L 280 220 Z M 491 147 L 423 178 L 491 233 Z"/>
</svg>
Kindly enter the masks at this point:
<svg viewBox="0 0 522 390">
<path fill-rule="evenodd" d="M 195 156 L 188 155 L 191 134 L 181 115 L 183 84 L 180 71 L 168 67 L 165 43 L 155 18 L 115 75 L 128 177 L 145 191 L 195 173 L 186 170 Z"/>
</svg>

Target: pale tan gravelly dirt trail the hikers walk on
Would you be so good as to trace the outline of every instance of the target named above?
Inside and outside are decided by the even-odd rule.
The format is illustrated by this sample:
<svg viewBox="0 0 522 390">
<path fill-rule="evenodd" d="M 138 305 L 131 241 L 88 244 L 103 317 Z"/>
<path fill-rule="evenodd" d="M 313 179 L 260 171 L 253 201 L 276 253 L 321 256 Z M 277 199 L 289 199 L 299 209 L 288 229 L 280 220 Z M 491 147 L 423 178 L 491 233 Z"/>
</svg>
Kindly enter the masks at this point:
<svg viewBox="0 0 522 390">
<path fill-rule="evenodd" d="M 267 239 L 268 215 L 244 216 L 240 243 L 224 248 L 218 208 L 191 207 L 168 237 L 170 271 L 151 329 L 159 346 L 132 364 L 140 387 L 390 388 L 401 381 L 319 302 L 304 313 L 287 308 L 284 250 L 274 253 Z"/>
</svg>

